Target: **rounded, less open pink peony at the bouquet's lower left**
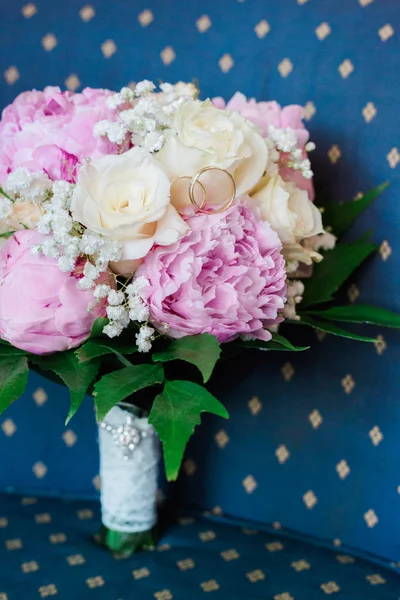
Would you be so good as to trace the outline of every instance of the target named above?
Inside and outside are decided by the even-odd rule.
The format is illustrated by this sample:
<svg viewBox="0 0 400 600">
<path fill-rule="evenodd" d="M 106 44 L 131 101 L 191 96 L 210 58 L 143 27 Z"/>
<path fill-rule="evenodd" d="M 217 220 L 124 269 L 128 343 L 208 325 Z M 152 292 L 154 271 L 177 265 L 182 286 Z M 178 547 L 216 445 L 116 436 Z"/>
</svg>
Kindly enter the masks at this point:
<svg viewBox="0 0 400 600">
<path fill-rule="evenodd" d="M 105 316 L 104 304 L 88 311 L 93 295 L 77 289 L 79 275 L 31 253 L 45 238 L 35 230 L 19 231 L 0 250 L 0 337 L 33 354 L 79 346 L 94 320 Z"/>
</svg>

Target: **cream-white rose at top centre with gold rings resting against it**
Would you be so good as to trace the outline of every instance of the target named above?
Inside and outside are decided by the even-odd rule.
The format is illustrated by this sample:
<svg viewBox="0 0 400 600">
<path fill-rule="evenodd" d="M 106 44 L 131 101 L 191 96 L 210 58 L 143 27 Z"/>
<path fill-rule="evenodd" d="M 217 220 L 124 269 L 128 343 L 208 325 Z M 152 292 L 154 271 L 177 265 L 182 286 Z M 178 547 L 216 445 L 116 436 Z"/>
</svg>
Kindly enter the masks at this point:
<svg viewBox="0 0 400 600">
<path fill-rule="evenodd" d="M 265 140 L 239 113 L 220 110 L 209 100 L 193 100 L 178 108 L 170 135 L 156 159 L 171 182 L 182 176 L 193 177 L 207 166 L 225 169 L 232 174 L 240 196 L 262 177 L 268 150 Z M 230 196 L 232 187 L 227 177 L 222 180 L 214 176 L 208 172 L 201 182 L 206 187 L 207 202 L 220 204 Z M 171 202 L 178 210 L 189 205 L 187 188 L 173 190 Z"/>
</svg>

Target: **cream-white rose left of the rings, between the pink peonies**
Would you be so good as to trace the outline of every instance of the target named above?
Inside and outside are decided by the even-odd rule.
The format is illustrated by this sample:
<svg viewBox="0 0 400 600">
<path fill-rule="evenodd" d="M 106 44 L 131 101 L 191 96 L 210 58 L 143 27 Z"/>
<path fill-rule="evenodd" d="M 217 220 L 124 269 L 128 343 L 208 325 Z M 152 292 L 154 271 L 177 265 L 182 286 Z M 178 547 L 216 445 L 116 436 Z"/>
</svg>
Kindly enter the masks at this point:
<svg viewBox="0 0 400 600">
<path fill-rule="evenodd" d="M 173 244 L 188 231 L 171 205 L 168 177 L 143 148 L 103 156 L 82 167 L 71 212 L 91 231 L 122 243 L 124 272 L 154 244 Z"/>
</svg>

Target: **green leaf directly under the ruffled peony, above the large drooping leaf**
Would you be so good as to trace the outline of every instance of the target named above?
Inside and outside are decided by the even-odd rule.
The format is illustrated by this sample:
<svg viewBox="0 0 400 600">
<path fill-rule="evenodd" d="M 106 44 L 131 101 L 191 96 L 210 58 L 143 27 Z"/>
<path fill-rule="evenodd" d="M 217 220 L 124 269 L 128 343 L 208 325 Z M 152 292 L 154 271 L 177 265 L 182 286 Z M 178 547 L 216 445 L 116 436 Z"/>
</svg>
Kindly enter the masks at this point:
<svg viewBox="0 0 400 600">
<path fill-rule="evenodd" d="M 153 354 L 154 362 L 168 360 L 185 360 L 195 365 L 203 375 L 206 383 L 221 354 L 221 346 L 217 339 L 209 333 L 190 335 L 173 341 L 166 350 Z"/>
</svg>

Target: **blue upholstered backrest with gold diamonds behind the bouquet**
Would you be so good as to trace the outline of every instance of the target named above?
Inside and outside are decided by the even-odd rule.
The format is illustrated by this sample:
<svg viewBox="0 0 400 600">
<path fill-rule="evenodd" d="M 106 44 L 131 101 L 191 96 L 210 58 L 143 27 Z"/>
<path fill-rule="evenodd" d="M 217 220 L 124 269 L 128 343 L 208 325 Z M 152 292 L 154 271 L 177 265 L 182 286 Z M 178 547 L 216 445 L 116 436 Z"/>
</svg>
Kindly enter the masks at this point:
<svg viewBox="0 0 400 600">
<path fill-rule="evenodd" d="M 317 144 L 312 155 L 317 197 L 351 200 L 391 181 L 354 229 L 353 237 L 374 228 L 381 250 L 349 282 L 348 294 L 352 301 L 400 310 L 397 1 L 88 2 L 92 8 L 84 8 L 82 0 L 37 0 L 23 8 L 19 1 L 0 0 L 1 106 L 32 87 L 119 88 L 144 77 L 197 77 L 202 97 L 229 98 L 240 89 L 258 99 L 306 106 Z M 398 562 L 400 344 L 396 332 L 374 333 L 381 336 L 375 345 L 328 336 L 314 338 L 307 354 L 254 354 L 227 365 L 213 387 L 232 418 L 206 419 L 196 434 L 175 490 L 180 503 L 261 524 L 277 522 Z M 24 398 L 0 418 L 2 489 L 97 493 L 91 404 L 85 402 L 65 431 L 67 403 L 62 388 L 31 376 Z M 183 548 L 194 543 L 185 535 Z M 31 558 L 34 554 L 26 556 Z M 342 568 L 334 558 L 333 563 Z M 257 561 L 250 567 L 262 568 Z M 84 568 L 85 577 L 98 574 L 96 562 Z M 209 573 L 199 582 L 218 581 L 218 569 Z M 327 578 L 318 577 L 310 589 L 318 590 Z M 251 589 L 261 589 L 258 585 L 269 584 Z M 266 589 L 260 597 L 272 598 Z M 377 594 L 378 588 L 365 589 Z M 289 586 L 276 589 L 286 590 Z M 311 598 L 294 592 L 296 600 Z M 368 592 L 342 596 L 368 598 Z"/>
</svg>

